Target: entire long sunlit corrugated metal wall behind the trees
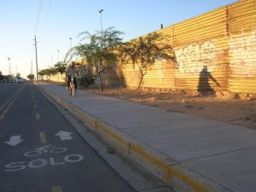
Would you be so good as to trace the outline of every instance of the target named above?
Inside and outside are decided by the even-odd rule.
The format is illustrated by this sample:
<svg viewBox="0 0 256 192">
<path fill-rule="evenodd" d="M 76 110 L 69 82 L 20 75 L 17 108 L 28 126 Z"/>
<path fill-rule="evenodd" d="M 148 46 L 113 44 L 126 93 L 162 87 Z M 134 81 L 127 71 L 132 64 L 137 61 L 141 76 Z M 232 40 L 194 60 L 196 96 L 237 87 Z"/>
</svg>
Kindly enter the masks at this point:
<svg viewBox="0 0 256 192">
<path fill-rule="evenodd" d="M 174 57 L 157 60 L 143 87 L 256 94 L 256 0 L 232 3 L 152 33 L 158 35 L 154 44 Z M 119 68 L 124 84 L 137 87 L 137 66 Z"/>
</svg>

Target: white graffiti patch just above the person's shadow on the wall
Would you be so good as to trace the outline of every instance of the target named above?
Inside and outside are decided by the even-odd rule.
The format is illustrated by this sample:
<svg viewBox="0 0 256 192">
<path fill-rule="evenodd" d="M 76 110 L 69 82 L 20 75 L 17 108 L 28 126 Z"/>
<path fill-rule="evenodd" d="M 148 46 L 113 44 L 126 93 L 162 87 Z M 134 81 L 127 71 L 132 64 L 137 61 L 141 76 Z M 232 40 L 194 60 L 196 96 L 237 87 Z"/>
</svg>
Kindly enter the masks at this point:
<svg viewBox="0 0 256 192">
<path fill-rule="evenodd" d="M 189 44 L 174 51 L 180 73 L 200 73 L 205 66 L 208 72 L 212 72 L 216 67 L 216 50 L 212 41 Z"/>
</svg>

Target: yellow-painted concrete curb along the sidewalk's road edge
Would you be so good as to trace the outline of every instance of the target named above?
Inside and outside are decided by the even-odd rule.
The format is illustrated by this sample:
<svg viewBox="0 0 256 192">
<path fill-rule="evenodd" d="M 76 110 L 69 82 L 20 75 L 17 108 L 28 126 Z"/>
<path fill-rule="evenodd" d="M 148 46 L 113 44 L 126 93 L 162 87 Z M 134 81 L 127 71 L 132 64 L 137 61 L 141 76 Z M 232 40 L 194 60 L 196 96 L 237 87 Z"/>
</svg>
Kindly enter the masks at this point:
<svg viewBox="0 0 256 192">
<path fill-rule="evenodd" d="M 165 154 L 160 154 L 154 148 L 139 143 L 137 139 L 125 135 L 106 122 L 102 122 L 101 119 L 96 119 L 82 109 L 74 107 L 73 104 L 65 101 L 60 96 L 55 96 L 54 93 L 44 87 L 39 88 L 63 108 L 82 120 L 90 131 L 102 137 L 106 143 L 113 146 L 126 158 L 136 162 L 147 172 L 153 174 L 154 177 L 158 177 L 161 181 L 170 185 L 172 189 L 178 192 L 231 192 L 230 189 L 226 189 L 207 177 L 201 176 L 194 170 L 183 166 L 180 162 L 170 159 Z"/>
</svg>

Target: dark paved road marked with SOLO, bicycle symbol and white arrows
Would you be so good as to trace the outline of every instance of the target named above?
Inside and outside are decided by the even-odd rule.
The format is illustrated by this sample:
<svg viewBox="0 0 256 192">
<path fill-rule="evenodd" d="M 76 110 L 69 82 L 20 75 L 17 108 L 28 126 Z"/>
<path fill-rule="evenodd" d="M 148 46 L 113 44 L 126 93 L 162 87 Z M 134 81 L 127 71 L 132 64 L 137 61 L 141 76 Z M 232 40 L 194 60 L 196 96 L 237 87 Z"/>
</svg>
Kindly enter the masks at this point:
<svg viewBox="0 0 256 192">
<path fill-rule="evenodd" d="M 32 84 L 0 84 L 1 192 L 133 191 Z"/>
</svg>

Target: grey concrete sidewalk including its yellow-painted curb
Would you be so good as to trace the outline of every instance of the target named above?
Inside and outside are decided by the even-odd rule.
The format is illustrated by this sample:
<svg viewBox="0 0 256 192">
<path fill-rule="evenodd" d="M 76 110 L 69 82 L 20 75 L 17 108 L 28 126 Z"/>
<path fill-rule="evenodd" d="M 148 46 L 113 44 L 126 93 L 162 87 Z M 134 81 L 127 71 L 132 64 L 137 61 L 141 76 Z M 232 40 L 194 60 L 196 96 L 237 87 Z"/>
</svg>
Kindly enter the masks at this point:
<svg viewBox="0 0 256 192">
<path fill-rule="evenodd" d="M 256 191 L 256 131 L 65 87 L 39 85 L 91 131 L 177 191 Z"/>
</svg>

